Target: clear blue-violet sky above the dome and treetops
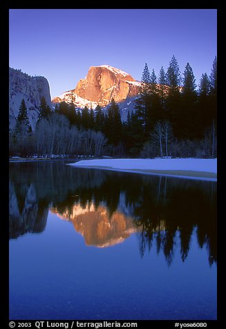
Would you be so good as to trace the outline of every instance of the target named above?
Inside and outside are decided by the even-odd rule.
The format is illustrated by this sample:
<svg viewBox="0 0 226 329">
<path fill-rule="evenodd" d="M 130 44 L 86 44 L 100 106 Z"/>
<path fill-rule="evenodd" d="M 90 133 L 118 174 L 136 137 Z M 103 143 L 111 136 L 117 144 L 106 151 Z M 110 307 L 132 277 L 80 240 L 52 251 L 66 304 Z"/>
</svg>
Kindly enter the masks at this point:
<svg viewBox="0 0 226 329">
<path fill-rule="evenodd" d="M 217 55 L 216 25 L 216 9 L 13 9 L 10 67 L 46 77 L 54 97 L 75 88 L 90 66 L 140 80 L 145 63 L 158 75 L 175 55 L 181 75 L 189 62 L 198 84 Z"/>
</svg>

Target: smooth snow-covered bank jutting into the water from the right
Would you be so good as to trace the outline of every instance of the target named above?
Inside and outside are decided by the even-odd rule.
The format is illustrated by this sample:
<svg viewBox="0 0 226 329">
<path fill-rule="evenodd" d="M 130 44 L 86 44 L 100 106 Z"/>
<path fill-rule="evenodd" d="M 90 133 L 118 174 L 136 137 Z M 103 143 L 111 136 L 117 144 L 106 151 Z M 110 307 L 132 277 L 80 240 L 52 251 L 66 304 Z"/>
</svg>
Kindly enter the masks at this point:
<svg viewBox="0 0 226 329">
<path fill-rule="evenodd" d="M 217 179 L 217 159 L 155 158 L 99 159 L 71 163 L 75 167 L 91 167 L 202 180 Z"/>
</svg>

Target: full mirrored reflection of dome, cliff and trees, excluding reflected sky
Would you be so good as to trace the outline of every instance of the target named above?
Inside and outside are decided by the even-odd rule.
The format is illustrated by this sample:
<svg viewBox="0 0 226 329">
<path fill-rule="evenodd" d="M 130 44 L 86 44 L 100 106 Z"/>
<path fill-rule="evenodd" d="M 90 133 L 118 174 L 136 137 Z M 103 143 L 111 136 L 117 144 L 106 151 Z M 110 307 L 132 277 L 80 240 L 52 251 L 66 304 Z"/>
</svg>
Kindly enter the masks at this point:
<svg viewBox="0 0 226 329">
<path fill-rule="evenodd" d="M 50 209 L 72 221 L 86 245 L 114 245 L 138 232 L 141 256 L 155 241 L 170 265 L 178 243 L 185 261 L 196 232 L 209 264 L 216 262 L 216 182 L 37 162 L 10 164 L 9 186 L 10 238 L 43 232 Z"/>
</svg>

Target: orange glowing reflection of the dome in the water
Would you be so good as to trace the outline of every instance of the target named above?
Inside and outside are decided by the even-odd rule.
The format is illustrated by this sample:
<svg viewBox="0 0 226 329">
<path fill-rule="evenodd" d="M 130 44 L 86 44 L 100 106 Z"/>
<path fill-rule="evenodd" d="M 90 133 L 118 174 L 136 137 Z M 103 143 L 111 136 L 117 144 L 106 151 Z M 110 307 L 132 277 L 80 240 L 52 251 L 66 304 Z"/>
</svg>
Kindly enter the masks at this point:
<svg viewBox="0 0 226 329">
<path fill-rule="evenodd" d="M 82 208 L 79 204 L 63 214 L 58 214 L 56 209 L 51 209 L 59 218 L 71 220 L 77 232 L 84 237 L 86 245 L 96 247 L 109 247 L 122 243 L 138 228 L 133 224 L 133 219 L 124 216 L 122 212 L 114 212 L 110 218 L 104 206 L 95 209 L 93 203 Z"/>
</svg>

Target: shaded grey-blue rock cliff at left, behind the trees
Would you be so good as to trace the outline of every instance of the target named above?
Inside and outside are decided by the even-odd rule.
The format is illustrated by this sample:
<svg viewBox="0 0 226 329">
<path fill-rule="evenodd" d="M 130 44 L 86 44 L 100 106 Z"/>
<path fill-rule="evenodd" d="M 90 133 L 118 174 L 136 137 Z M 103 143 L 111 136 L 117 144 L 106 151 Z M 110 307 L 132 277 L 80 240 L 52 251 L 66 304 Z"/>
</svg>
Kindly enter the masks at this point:
<svg viewBox="0 0 226 329">
<path fill-rule="evenodd" d="M 10 68 L 9 84 L 10 129 L 15 126 L 22 100 L 26 102 L 30 125 L 34 129 L 39 114 L 41 97 L 44 96 L 48 106 L 52 106 L 48 80 L 45 77 L 31 77 L 26 73 Z"/>
</svg>

